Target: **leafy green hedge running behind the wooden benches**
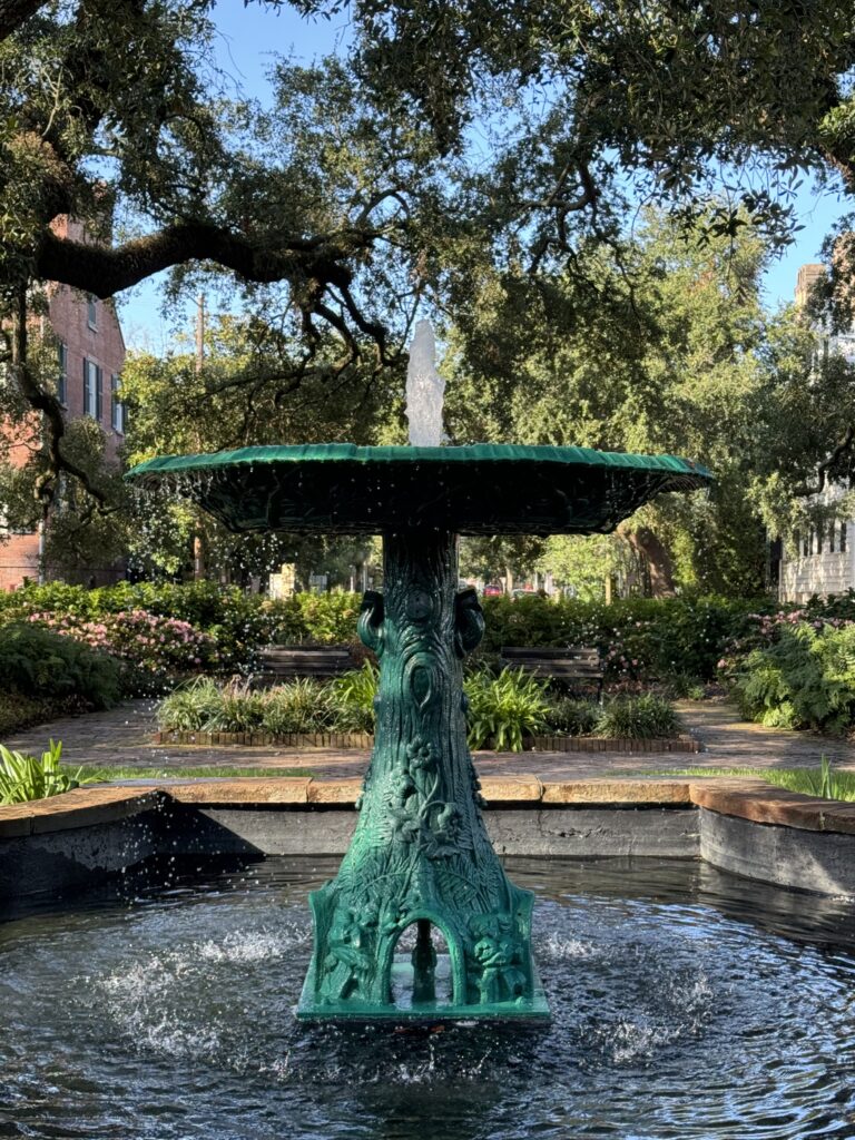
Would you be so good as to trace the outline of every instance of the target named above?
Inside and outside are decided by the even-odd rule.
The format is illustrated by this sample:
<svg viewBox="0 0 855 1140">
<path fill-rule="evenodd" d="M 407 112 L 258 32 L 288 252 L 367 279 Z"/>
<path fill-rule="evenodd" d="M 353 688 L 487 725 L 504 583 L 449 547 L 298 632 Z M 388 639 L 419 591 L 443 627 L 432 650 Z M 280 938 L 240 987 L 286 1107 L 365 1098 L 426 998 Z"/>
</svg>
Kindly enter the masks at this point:
<svg viewBox="0 0 855 1140">
<path fill-rule="evenodd" d="M 78 620 L 142 610 L 189 622 L 213 638 L 221 674 L 254 668 L 270 643 L 357 643 L 357 594 L 296 594 L 270 601 L 213 583 L 140 583 L 85 589 L 52 584 L 0 595 L 0 621 L 39 612 Z M 780 614 L 769 598 L 626 598 L 605 605 L 568 598 L 483 598 L 487 628 L 477 660 L 495 663 L 503 645 L 594 645 L 609 681 L 671 677 L 711 681 L 728 646 L 750 635 L 758 616 Z M 807 618 L 855 619 L 855 594 L 829 603 L 814 601 Z"/>
</svg>

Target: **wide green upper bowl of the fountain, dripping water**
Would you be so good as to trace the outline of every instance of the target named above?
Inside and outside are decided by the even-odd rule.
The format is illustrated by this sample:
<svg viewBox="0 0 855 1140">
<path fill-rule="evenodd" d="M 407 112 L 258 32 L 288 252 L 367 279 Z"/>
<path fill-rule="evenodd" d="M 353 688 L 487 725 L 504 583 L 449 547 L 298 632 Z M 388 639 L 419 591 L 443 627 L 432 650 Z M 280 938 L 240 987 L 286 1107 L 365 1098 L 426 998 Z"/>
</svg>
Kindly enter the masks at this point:
<svg viewBox="0 0 855 1140">
<path fill-rule="evenodd" d="M 580 447 L 245 447 L 148 459 L 128 472 L 165 484 L 233 531 L 464 535 L 608 534 L 663 491 L 707 487 L 673 455 Z"/>
</svg>

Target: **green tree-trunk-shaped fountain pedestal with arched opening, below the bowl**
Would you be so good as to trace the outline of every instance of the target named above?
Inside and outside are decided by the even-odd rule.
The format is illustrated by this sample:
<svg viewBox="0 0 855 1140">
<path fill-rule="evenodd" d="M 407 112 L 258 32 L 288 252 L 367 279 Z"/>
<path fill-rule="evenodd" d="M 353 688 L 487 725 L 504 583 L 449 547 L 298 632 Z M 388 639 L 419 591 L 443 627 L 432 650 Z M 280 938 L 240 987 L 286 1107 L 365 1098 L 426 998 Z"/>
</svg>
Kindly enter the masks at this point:
<svg viewBox="0 0 855 1140">
<path fill-rule="evenodd" d="M 534 896 L 492 850 L 466 747 L 463 658 L 483 633 L 475 591 L 457 589 L 454 535 L 383 537 L 384 593 L 368 592 L 359 618 L 380 659 L 374 752 L 348 854 L 310 896 L 315 951 L 298 1016 L 548 1018 L 531 958 Z M 412 926 L 412 955 L 396 954 Z M 445 1004 L 431 927 L 448 947 Z M 406 1007 L 393 1002 L 393 974 L 396 990 L 412 988 Z"/>
</svg>

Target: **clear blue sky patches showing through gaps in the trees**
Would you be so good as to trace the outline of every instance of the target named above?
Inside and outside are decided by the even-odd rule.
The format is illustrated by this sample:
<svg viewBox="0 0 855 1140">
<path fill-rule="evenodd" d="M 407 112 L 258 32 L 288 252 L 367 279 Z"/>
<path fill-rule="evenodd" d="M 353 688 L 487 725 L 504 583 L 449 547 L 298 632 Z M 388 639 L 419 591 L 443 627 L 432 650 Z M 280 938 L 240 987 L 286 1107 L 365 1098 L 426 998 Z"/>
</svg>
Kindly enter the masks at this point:
<svg viewBox="0 0 855 1140">
<path fill-rule="evenodd" d="M 267 70 L 276 55 L 293 55 L 303 62 L 335 50 L 347 42 L 349 21 L 347 13 L 331 21 L 300 17 L 293 8 L 266 9 L 253 2 L 244 7 L 241 0 L 221 0 L 214 9 L 218 27 L 217 63 L 237 83 L 246 96 L 262 103 L 269 96 Z M 852 199 L 848 202 L 852 210 Z M 769 267 L 765 279 L 766 302 L 775 308 L 792 300 L 799 266 L 820 260 L 823 239 L 847 206 L 832 192 L 816 193 L 805 185 L 796 199 L 796 211 L 804 227 L 796 242 Z M 165 352 L 176 333 L 174 318 L 160 315 L 160 283 L 162 275 L 137 286 L 120 299 L 120 311 L 129 347 Z M 186 319 L 179 320 L 192 333 L 193 306 L 188 304 Z"/>
</svg>

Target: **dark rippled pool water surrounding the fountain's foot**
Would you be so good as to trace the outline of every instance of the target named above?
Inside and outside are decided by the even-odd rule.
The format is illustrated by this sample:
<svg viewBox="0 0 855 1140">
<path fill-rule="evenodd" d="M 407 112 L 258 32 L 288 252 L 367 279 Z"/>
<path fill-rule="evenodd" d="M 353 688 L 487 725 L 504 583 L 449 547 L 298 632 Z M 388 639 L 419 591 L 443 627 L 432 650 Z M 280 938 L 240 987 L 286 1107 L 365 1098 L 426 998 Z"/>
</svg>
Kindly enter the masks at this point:
<svg viewBox="0 0 855 1140">
<path fill-rule="evenodd" d="M 0 1135 L 855 1137 L 855 918 L 692 862 L 515 861 L 546 1029 L 298 1025 L 270 860 L 0 927 Z"/>
</svg>

